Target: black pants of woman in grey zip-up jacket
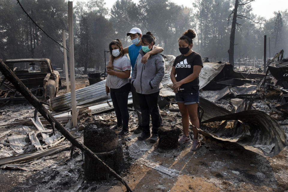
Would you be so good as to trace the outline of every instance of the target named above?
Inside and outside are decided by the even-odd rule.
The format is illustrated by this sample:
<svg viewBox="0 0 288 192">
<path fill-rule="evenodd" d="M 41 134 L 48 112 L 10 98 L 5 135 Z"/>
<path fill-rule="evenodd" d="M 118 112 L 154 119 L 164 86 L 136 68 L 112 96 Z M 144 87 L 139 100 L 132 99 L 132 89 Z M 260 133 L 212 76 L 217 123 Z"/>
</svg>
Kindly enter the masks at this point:
<svg viewBox="0 0 288 192">
<path fill-rule="evenodd" d="M 152 134 L 157 134 L 158 127 L 161 126 L 162 118 L 158 107 L 158 95 L 159 91 L 148 95 L 138 93 L 142 116 L 142 131 L 147 134 L 150 134 L 150 115 L 152 120 Z"/>
</svg>

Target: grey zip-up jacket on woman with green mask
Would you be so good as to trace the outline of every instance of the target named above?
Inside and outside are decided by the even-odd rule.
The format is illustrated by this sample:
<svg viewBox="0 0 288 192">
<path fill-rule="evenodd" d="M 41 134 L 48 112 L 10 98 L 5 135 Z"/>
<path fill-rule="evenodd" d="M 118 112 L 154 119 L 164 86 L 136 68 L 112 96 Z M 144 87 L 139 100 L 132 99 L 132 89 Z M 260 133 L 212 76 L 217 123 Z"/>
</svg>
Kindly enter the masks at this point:
<svg viewBox="0 0 288 192">
<path fill-rule="evenodd" d="M 163 87 L 161 81 L 165 73 L 165 62 L 163 55 L 157 53 L 150 55 L 146 64 L 141 62 L 145 52 L 140 49 L 133 68 L 131 83 L 136 92 L 140 94 L 152 94 L 160 91 Z"/>
</svg>

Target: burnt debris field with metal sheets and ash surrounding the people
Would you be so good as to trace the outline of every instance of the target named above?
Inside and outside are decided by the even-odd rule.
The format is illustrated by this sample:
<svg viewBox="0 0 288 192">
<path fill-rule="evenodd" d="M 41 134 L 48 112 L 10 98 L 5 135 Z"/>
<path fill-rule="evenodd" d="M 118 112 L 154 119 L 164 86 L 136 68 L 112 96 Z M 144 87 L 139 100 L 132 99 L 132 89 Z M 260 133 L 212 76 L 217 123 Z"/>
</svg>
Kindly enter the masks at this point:
<svg viewBox="0 0 288 192">
<path fill-rule="evenodd" d="M 71 125 L 64 79 L 56 97 L 44 106 L 79 143 L 91 140 L 88 130 L 95 129 L 97 147 L 88 148 L 114 167 L 133 191 L 288 190 L 287 60 L 271 60 L 267 75 L 249 64 L 233 69 L 220 61 L 204 63 L 199 76 L 202 123 L 197 152 L 190 151 L 190 143 L 175 143 L 182 126 L 170 88 L 171 60 L 173 56 L 165 55 L 166 75 L 158 101 L 164 127 L 156 143 L 139 141 L 139 134 L 133 133 L 137 115 L 131 96 L 129 134 L 118 138 L 118 131 L 105 132 L 116 125 L 116 115 L 102 79 L 92 85 L 87 77 L 76 79 L 77 127 Z M 90 91 L 97 97 L 85 99 Z M 88 161 L 88 155 L 65 139 L 56 125 L 54 135 L 50 122 L 39 113 L 35 119 L 34 112 L 27 101 L 2 102 L 1 191 L 126 191 L 102 164 Z M 111 137 L 102 137 L 101 130 Z"/>
</svg>

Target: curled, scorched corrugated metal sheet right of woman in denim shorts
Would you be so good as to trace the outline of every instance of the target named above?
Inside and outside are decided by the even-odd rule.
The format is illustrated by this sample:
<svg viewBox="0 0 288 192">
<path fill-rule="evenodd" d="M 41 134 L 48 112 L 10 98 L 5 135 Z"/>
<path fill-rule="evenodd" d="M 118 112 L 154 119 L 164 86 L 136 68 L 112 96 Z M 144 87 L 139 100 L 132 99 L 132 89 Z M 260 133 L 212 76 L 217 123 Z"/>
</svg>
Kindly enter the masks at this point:
<svg viewBox="0 0 288 192">
<path fill-rule="evenodd" d="M 230 126 L 205 124 L 215 121 L 235 120 Z M 211 126 L 212 125 L 212 126 Z M 276 120 L 265 112 L 242 111 L 214 117 L 202 122 L 200 134 L 217 140 L 229 141 L 264 157 L 272 157 L 287 146 L 287 136 Z"/>
</svg>

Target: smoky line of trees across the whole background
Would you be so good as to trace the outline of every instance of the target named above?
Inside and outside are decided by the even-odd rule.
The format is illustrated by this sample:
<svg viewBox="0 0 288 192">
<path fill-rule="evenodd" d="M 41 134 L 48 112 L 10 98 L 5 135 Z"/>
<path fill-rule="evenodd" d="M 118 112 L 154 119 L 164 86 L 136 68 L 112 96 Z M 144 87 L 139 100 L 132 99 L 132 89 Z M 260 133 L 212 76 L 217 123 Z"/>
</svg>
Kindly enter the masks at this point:
<svg viewBox="0 0 288 192">
<path fill-rule="evenodd" d="M 236 0 L 238 1 L 238 0 Z M 62 29 L 68 31 L 68 4 L 64 0 L 21 0 L 26 12 L 55 41 L 62 44 Z M 264 35 L 270 38 L 270 55 L 288 51 L 288 13 L 274 12 L 265 19 L 252 13 L 250 4 L 238 7 L 234 60 L 262 59 Z M 235 1 L 196 0 L 189 7 L 167 0 L 117 0 L 108 9 L 104 0 L 77 1 L 74 11 L 74 51 L 77 67 L 104 67 L 104 49 L 114 39 L 131 44 L 126 33 L 139 27 L 151 31 L 164 54 L 179 55 L 178 38 L 187 29 L 196 32 L 193 50 L 209 58 L 228 61 L 231 23 L 228 17 Z M 269 6 L 269 5 L 267 5 Z M 250 19 L 247 19 L 250 18 Z M 257 22 L 253 22 L 257 21 Z M 66 34 L 68 38 L 68 34 Z M 67 46 L 68 39 L 66 39 Z M 109 54 L 109 53 L 108 53 Z M 267 40 L 267 57 L 269 44 Z M 63 49 L 36 27 L 16 0 L 0 0 L 0 58 L 49 58 L 63 68 Z M 108 58 L 108 57 L 107 57 Z"/>
</svg>

